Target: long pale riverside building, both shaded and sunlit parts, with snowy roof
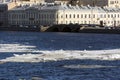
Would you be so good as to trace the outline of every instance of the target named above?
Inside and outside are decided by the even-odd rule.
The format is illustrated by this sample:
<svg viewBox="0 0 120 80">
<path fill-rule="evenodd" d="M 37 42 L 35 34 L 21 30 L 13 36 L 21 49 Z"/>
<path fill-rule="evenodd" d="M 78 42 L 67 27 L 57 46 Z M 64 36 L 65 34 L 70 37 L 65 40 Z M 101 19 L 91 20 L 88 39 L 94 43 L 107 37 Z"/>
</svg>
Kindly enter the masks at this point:
<svg viewBox="0 0 120 80">
<path fill-rule="evenodd" d="M 9 25 L 102 24 L 120 25 L 119 8 L 71 5 L 19 7 L 9 11 Z"/>
</svg>

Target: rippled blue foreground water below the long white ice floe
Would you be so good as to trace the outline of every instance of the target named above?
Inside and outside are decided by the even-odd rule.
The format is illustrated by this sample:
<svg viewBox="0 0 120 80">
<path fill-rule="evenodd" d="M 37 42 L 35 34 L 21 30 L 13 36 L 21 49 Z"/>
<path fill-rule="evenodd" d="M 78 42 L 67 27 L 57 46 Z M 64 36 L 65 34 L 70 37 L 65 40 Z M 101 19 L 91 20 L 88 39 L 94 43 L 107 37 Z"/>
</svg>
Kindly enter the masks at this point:
<svg viewBox="0 0 120 80">
<path fill-rule="evenodd" d="M 0 80 L 34 80 L 33 77 L 40 80 L 120 80 L 120 61 L 86 59 L 0 64 Z"/>
</svg>

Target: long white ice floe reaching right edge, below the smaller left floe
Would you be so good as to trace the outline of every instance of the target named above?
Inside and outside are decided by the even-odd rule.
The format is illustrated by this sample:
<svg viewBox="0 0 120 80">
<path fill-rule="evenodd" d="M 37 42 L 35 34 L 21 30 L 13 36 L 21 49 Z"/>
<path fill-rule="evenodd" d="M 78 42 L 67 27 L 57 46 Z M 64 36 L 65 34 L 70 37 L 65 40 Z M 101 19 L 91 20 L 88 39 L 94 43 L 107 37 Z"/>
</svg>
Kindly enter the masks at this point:
<svg viewBox="0 0 120 80">
<path fill-rule="evenodd" d="M 13 54 L 12 57 L 7 57 L 0 61 L 5 62 L 43 62 L 43 61 L 58 61 L 72 59 L 94 59 L 94 60 L 119 60 L 120 50 L 98 50 L 98 51 L 70 51 L 70 50 L 55 50 L 55 51 L 32 51 L 40 54 Z"/>
</svg>

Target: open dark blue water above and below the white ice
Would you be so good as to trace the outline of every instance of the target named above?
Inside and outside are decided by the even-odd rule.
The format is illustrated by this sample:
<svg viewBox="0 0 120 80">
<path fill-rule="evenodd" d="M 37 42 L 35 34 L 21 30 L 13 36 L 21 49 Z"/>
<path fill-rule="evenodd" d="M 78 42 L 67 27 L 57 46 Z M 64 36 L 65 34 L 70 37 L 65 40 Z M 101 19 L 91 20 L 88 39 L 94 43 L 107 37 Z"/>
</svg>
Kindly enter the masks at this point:
<svg viewBox="0 0 120 80">
<path fill-rule="evenodd" d="M 3 44 L 35 46 L 33 50 L 106 50 L 120 48 L 119 34 L 0 32 L 0 50 Z M 10 49 L 16 49 L 15 46 Z M 0 59 L 23 54 L 9 48 L 0 51 Z M 9 52 L 11 51 L 11 52 Z M 34 54 L 34 53 L 33 53 Z M 39 53 L 37 53 L 39 54 Z M 74 53 L 73 53 L 74 54 Z M 86 65 L 87 68 L 67 68 Z M 100 65 L 104 67 L 89 66 Z M 38 63 L 7 62 L 0 64 L 0 80 L 120 80 L 120 61 L 62 60 Z"/>
</svg>

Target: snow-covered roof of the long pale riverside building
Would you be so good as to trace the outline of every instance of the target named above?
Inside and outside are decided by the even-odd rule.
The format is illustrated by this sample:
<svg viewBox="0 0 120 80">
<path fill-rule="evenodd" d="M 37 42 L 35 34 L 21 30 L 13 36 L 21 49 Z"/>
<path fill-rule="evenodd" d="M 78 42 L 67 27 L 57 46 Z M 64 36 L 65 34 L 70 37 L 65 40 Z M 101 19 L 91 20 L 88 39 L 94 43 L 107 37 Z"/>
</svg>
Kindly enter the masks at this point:
<svg viewBox="0 0 120 80">
<path fill-rule="evenodd" d="M 71 6 L 71 5 L 66 5 L 66 4 L 32 4 L 32 5 L 20 5 L 14 8 L 13 10 L 26 10 L 29 8 L 36 8 L 38 10 L 82 10 L 82 11 L 99 11 L 99 12 L 120 12 L 119 8 L 111 8 L 111 7 L 91 7 L 91 6 Z"/>
</svg>

